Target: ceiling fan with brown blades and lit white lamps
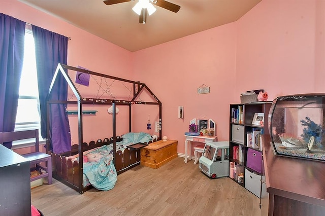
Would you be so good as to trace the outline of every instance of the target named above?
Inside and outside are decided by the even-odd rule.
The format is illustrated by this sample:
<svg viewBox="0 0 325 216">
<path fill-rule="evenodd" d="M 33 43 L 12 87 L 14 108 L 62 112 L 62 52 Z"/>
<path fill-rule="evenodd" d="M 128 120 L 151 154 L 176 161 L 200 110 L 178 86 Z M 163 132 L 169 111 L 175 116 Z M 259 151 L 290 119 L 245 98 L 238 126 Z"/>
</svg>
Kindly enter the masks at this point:
<svg viewBox="0 0 325 216">
<path fill-rule="evenodd" d="M 135 0 L 106 0 L 104 3 L 106 5 L 114 5 L 123 2 L 133 2 Z M 181 8 L 178 5 L 164 1 L 164 0 L 139 0 L 139 2 L 133 7 L 133 11 L 140 15 L 139 22 L 145 24 L 147 22 L 147 14 L 149 16 L 153 14 L 156 9 L 153 5 L 165 8 L 169 11 L 177 13 Z"/>
</svg>

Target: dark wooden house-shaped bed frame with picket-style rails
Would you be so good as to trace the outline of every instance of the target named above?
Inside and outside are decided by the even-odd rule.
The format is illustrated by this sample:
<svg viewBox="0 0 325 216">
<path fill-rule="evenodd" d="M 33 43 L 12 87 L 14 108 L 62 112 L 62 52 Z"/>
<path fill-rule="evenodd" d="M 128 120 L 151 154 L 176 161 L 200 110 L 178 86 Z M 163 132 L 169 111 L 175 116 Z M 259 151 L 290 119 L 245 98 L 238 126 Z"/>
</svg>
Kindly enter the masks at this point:
<svg viewBox="0 0 325 216">
<path fill-rule="evenodd" d="M 133 85 L 133 98 L 131 100 L 120 100 L 118 98 L 114 99 L 107 99 L 107 98 L 88 98 L 83 97 L 80 92 L 78 91 L 76 85 L 73 83 L 72 79 L 70 78 L 68 74 L 68 70 L 76 71 L 76 73 L 83 73 L 88 74 L 90 76 L 98 76 L 101 78 L 106 79 L 112 79 L 117 80 L 120 82 L 125 82 L 128 84 Z M 140 148 L 139 149 L 132 149 L 132 148 L 126 148 L 124 151 L 120 151 L 116 149 L 116 142 L 120 142 L 123 139 L 123 135 L 117 135 L 116 134 L 116 105 L 123 105 L 128 106 L 128 116 L 129 116 L 129 128 L 128 131 L 132 132 L 132 105 L 135 104 L 142 104 L 142 105 L 158 105 L 159 106 L 159 124 L 160 124 L 160 130 L 159 130 L 159 138 L 161 137 L 161 102 L 158 100 L 158 98 L 153 94 L 153 92 L 146 86 L 144 83 L 135 82 L 131 80 L 121 79 L 117 77 L 112 77 L 104 74 L 95 73 L 93 71 L 72 67 L 69 65 L 64 64 L 58 64 L 55 74 L 52 79 L 52 83 L 49 89 L 48 98 L 51 98 L 51 92 L 53 89 L 53 86 L 55 85 L 56 78 L 59 74 L 62 74 L 64 77 L 64 80 L 67 82 L 68 87 L 73 91 L 74 96 L 76 97 L 76 100 L 65 100 L 65 101 L 57 101 L 57 100 L 47 100 L 47 149 L 50 149 L 50 125 L 49 125 L 49 116 L 50 116 L 50 105 L 51 104 L 77 104 L 77 115 L 78 115 L 78 144 L 72 145 L 71 151 L 64 152 L 60 154 L 55 154 L 52 152 L 48 152 L 52 155 L 52 176 L 60 181 L 63 184 L 66 184 L 67 186 L 71 187 L 72 189 L 76 190 L 80 194 L 84 193 L 85 191 L 89 190 L 91 188 L 90 186 L 85 186 L 83 182 L 83 153 L 87 150 L 91 150 L 97 147 L 101 147 L 104 145 L 112 145 L 113 146 L 113 163 L 115 165 L 117 174 L 122 173 L 128 169 L 131 169 L 137 165 L 140 164 Z M 147 91 L 149 95 L 152 96 L 153 102 L 151 101 L 142 101 L 138 100 L 139 95 L 143 92 Z M 83 142 L 83 104 L 91 104 L 96 106 L 109 106 L 111 105 L 113 108 L 112 112 L 112 134 L 110 138 L 96 138 L 93 140 L 96 141 L 90 141 L 89 143 Z M 156 141 L 149 140 L 148 143 Z M 72 161 L 69 156 L 77 155 L 78 161 Z"/>
</svg>

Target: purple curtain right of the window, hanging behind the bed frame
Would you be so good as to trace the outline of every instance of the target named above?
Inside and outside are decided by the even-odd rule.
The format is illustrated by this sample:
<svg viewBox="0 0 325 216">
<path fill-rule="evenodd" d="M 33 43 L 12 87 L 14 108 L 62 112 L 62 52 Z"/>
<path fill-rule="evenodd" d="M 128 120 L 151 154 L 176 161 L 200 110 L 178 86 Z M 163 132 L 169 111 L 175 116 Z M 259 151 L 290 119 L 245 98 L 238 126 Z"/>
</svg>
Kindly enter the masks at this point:
<svg viewBox="0 0 325 216">
<path fill-rule="evenodd" d="M 41 135 L 47 136 L 47 95 L 53 75 L 58 63 L 67 64 L 68 38 L 32 25 L 32 34 L 35 40 L 36 67 L 38 76 L 40 111 L 41 111 Z M 68 84 L 59 74 L 53 88 L 52 100 L 67 100 Z M 71 150 L 71 135 L 67 104 L 51 104 L 50 107 L 50 141 L 54 153 Z"/>
</svg>

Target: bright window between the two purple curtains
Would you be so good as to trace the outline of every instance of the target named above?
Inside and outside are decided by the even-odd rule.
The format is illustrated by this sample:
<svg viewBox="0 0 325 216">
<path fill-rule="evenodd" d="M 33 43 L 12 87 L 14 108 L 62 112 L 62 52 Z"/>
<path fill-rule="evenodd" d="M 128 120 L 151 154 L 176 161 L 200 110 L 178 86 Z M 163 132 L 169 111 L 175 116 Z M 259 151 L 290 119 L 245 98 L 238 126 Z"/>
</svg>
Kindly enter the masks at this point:
<svg viewBox="0 0 325 216">
<path fill-rule="evenodd" d="M 40 103 L 38 95 L 34 38 L 31 26 L 26 24 L 24 60 L 19 86 L 15 131 L 40 129 Z M 13 144 L 15 145 L 15 143 Z"/>
</svg>

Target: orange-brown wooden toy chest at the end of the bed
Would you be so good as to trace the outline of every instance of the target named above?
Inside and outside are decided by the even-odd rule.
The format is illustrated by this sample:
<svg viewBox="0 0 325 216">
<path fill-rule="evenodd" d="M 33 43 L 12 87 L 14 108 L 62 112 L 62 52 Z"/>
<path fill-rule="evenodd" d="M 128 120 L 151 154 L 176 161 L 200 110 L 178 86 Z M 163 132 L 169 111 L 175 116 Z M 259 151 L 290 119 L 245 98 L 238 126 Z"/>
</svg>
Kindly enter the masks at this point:
<svg viewBox="0 0 325 216">
<path fill-rule="evenodd" d="M 159 140 L 141 149 L 140 164 L 157 169 L 174 158 L 177 158 L 177 140 Z"/>
</svg>

